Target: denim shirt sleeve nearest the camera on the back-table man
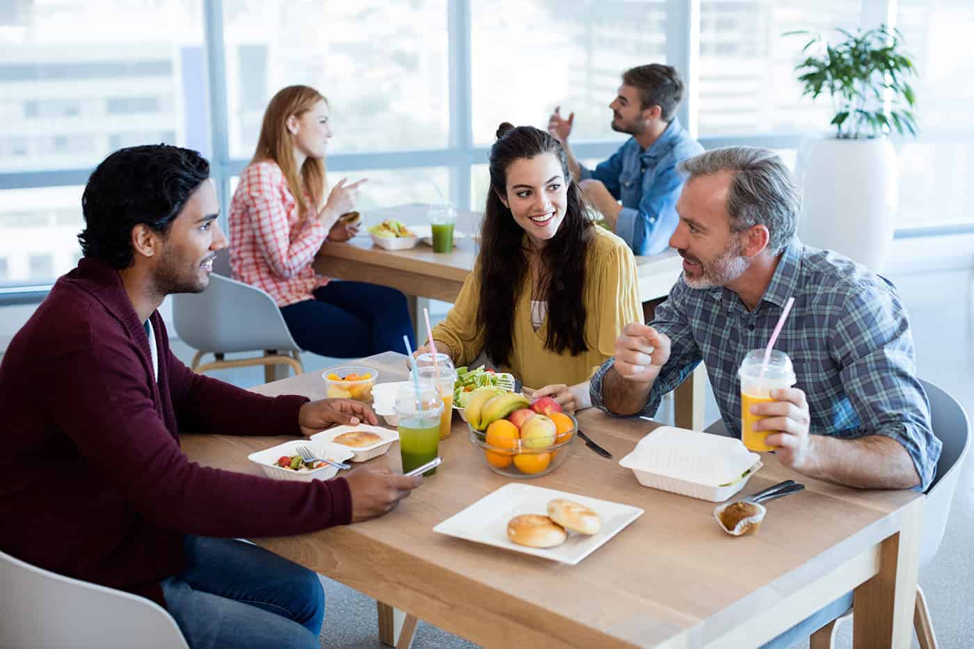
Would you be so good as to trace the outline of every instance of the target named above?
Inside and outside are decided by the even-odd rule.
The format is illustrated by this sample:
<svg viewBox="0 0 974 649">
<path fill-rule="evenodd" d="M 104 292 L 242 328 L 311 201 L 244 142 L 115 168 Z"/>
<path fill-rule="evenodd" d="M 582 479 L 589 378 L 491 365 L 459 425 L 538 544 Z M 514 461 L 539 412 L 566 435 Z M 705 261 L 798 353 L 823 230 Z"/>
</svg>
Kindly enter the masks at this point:
<svg viewBox="0 0 974 649">
<path fill-rule="evenodd" d="M 664 163 L 640 199 L 639 208 L 619 210 L 616 234 L 636 254 L 653 254 L 668 245 L 677 226 L 676 202 L 683 183 L 684 177 L 674 162 Z"/>
</svg>

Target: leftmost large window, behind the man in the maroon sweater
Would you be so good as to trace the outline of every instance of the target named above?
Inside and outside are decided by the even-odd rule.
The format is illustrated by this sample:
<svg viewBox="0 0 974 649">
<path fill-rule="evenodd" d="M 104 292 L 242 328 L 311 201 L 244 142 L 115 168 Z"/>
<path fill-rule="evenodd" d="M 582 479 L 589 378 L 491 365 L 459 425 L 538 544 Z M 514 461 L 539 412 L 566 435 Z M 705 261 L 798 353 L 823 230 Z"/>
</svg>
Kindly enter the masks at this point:
<svg viewBox="0 0 974 649">
<path fill-rule="evenodd" d="M 80 255 L 81 187 L 26 172 L 75 170 L 83 183 L 123 146 L 208 152 L 202 5 L 33 0 L 0 20 L 0 176 L 25 185 L 0 191 L 0 284 L 50 283 Z"/>
</svg>

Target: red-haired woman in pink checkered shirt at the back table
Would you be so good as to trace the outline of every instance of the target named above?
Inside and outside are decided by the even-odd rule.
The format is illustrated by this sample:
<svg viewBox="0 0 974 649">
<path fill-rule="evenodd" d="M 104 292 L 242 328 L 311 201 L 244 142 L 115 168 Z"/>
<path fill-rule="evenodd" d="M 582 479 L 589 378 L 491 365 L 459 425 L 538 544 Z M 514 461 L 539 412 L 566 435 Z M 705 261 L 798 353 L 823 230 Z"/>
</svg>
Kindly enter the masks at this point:
<svg viewBox="0 0 974 649">
<path fill-rule="evenodd" d="M 387 286 L 330 281 L 312 268 L 325 239 L 348 241 L 357 225 L 358 186 L 339 180 L 326 194 L 328 103 L 313 88 L 289 86 L 271 99 L 257 150 L 230 204 L 234 279 L 263 288 L 302 349 L 357 358 L 401 351 L 413 341 L 405 296 Z"/>
</svg>

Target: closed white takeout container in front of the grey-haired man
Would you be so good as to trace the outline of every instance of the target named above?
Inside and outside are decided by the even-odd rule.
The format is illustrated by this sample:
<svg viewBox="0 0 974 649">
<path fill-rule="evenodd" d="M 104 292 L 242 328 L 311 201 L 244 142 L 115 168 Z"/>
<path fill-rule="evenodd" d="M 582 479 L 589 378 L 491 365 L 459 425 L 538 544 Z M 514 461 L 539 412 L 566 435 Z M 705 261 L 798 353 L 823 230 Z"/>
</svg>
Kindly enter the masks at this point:
<svg viewBox="0 0 974 649">
<path fill-rule="evenodd" d="M 662 426 L 618 461 L 643 486 L 720 503 L 762 467 L 740 439 Z"/>
</svg>

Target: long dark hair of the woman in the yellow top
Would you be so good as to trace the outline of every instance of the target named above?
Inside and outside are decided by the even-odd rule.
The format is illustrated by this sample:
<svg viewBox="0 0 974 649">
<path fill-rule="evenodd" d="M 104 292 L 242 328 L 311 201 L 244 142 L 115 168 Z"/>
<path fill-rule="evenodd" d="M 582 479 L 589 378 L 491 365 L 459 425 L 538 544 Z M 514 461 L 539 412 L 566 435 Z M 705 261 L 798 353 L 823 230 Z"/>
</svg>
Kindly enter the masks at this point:
<svg viewBox="0 0 974 649">
<path fill-rule="evenodd" d="M 505 122 L 497 130 L 490 150 L 490 190 L 481 236 L 480 306 L 477 325 L 485 332 L 484 349 L 493 363 L 510 358 L 514 307 L 528 276 L 528 257 L 522 247 L 524 230 L 501 201 L 507 193 L 507 168 L 515 160 L 551 153 L 561 163 L 568 183 L 565 218 L 542 251 L 542 294 L 547 300 L 547 336 L 544 348 L 572 356 L 588 350 L 585 342 L 585 257 L 594 237 L 594 225 L 582 210 L 581 189 L 572 178 L 565 150 L 554 137 L 534 127 L 513 127 Z"/>
</svg>

